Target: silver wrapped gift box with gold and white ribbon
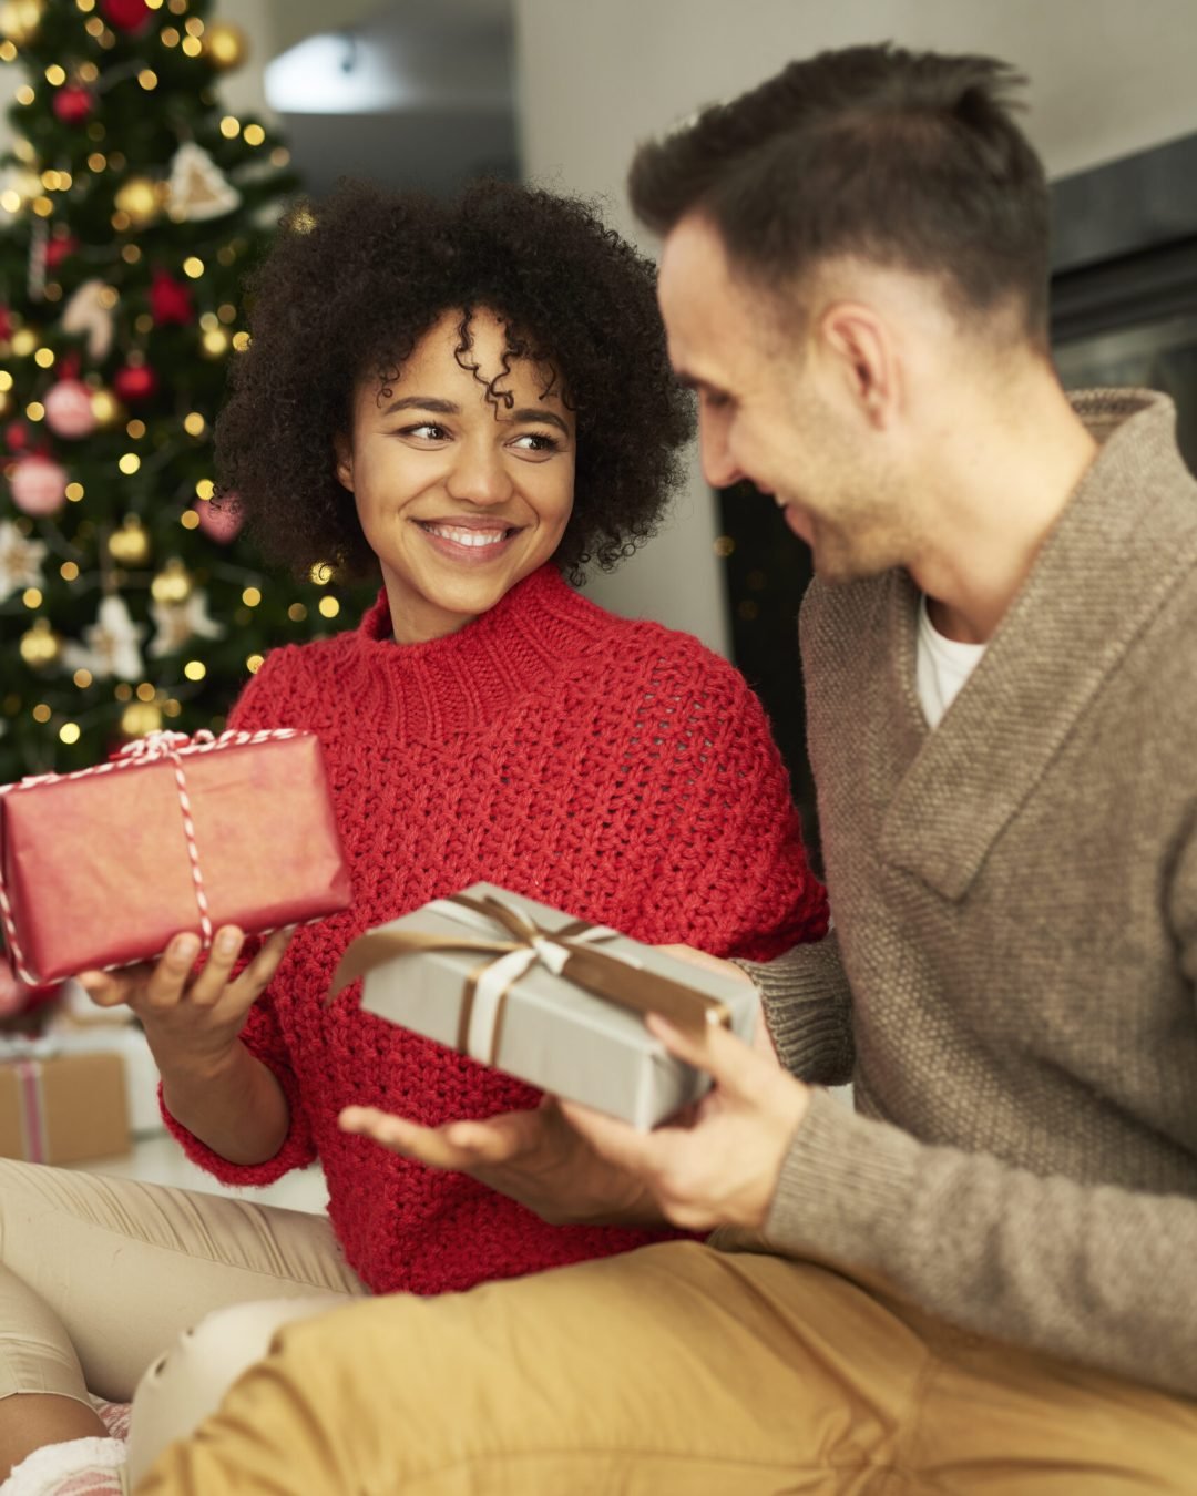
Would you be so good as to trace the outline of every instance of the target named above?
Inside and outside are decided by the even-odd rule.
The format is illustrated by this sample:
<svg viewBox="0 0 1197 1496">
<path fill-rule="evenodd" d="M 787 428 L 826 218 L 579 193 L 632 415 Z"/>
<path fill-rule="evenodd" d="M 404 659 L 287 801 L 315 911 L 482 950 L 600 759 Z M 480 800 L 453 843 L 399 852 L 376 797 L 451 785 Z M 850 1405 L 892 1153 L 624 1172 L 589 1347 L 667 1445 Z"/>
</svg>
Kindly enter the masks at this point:
<svg viewBox="0 0 1197 1496">
<path fill-rule="evenodd" d="M 603 925 L 474 883 L 380 925 L 346 950 L 332 995 L 519 1080 L 651 1128 L 711 1077 L 669 1055 L 643 1014 L 753 1037 L 756 990 Z"/>
</svg>

